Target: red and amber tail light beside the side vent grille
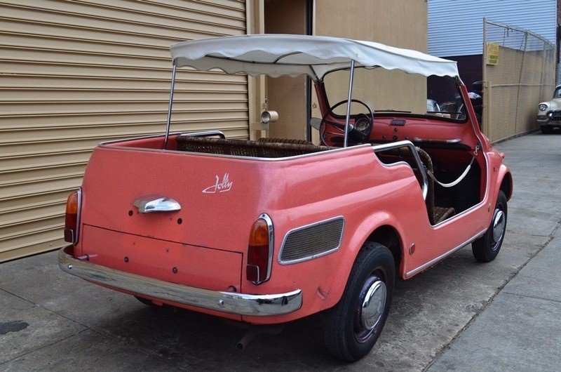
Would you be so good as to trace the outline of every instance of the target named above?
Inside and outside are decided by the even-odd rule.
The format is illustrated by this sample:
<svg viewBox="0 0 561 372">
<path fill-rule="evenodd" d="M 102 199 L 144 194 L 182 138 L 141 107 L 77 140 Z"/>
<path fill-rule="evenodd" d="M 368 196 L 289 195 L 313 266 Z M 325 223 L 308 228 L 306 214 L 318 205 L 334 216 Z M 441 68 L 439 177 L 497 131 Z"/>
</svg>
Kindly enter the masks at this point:
<svg viewBox="0 0 561 372">
<path fill-rule="evenodd" d="M 271 277 L 273 265 L 273 222 L 269 215 L 262 214 L 253 223 L 248 245 L 246 277 L 253 284 L 261 284 Z"/>
</svg>

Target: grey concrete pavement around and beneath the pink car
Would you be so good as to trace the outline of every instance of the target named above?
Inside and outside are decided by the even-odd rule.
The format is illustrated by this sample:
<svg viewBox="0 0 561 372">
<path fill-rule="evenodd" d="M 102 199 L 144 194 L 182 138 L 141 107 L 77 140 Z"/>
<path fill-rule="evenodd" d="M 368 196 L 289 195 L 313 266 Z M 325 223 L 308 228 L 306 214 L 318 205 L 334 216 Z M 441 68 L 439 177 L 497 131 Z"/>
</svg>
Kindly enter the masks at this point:
<svg viewBox="0 0 561 372">
<path fill-rule="evenodd" d="M 554 234 L 561 135 L 528 135 L 497 147 L 515 183 L 501 253 L 478 263 L 466 247 L 398 281 L 381 338 L 355 364 L 325 351 L 320 316 L 237 350 L 243 328 L 155 310 L 88 284 L 61 272 L 53 252 L 0 265 L 0 370 L 553 369 L 561 346 L 561 238 Z"/>
</svg>

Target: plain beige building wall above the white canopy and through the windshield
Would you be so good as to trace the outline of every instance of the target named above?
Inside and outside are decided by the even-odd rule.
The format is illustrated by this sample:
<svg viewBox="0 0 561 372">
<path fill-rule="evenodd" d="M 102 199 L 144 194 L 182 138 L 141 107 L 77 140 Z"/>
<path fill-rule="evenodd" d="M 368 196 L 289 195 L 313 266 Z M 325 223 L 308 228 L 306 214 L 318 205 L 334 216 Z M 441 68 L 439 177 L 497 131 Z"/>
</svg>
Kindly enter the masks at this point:
<svg viewBox="0 0 561 372">
<path fill-rule="evenodd" d="M 376 41 L 423 53 L 427 51 L 426 0 L 317 0 L 315 5 L 316 35 Z M 335 87 L 332 95 L 346 99 L 349 73 L 338 73 L 337 79 L 339 84 L 331 84 Z M 374 110 L 393 108 L 426 112 L 425 77 L 358 69 L 355 79 L 360 84 L 353 88 L 353 98 L 367 101 Z M 334 103 L 330 100 L 331 105 Z M 339 109 L 344 112 L 345 107 L 342 105 Z M 364 111 L 362 106 L 358 109 Z M 313 110 L 313 116 L 320 117 L 319 109 Z"/>
</svg>

